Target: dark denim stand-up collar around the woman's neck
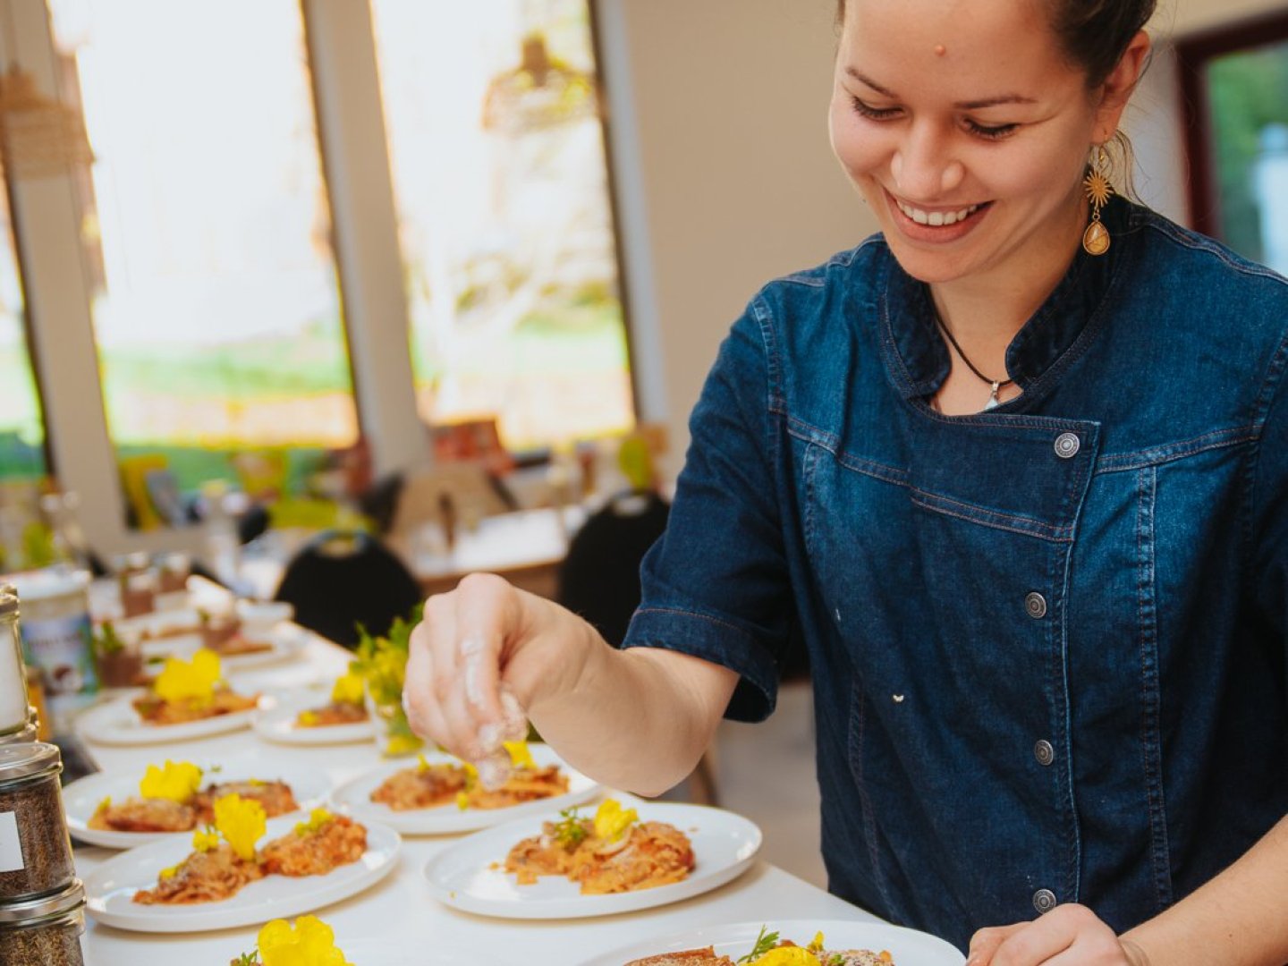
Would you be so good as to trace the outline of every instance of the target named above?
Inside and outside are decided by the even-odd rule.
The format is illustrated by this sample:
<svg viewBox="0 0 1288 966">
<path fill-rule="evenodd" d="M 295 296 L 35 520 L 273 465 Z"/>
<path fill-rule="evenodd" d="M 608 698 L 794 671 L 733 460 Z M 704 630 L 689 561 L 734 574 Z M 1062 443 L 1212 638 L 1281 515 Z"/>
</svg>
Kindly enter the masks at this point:
<svg viewBox="0 0 1288 966">
<path fill-rule="evenodd" d="M 1130 206 L 1112 200 L 1103 211 L 1110 238 L 1127 227 Z M 1028 394 L 1039 392 L 1052 368 L 1083 334 L 1087 321 L 1101 305 L 1114 277 L 1124 246 L 1110 243 L 1104 255 L 1088 255 L 1078 246 L 1077 255 L 1055 291 L 1011 340 L 1006 350 L 1007 377 Z M 905 398 L 934 395 L 948 377 L 952 359 L 935 323 L 930 289 L 907 274 L 899 263 L 887 259 L 884 289 L 878 300 L 886 366 L 899 393 Z M 1014 410 L 1028 403 L 1015 402 Z"/>
</svg>

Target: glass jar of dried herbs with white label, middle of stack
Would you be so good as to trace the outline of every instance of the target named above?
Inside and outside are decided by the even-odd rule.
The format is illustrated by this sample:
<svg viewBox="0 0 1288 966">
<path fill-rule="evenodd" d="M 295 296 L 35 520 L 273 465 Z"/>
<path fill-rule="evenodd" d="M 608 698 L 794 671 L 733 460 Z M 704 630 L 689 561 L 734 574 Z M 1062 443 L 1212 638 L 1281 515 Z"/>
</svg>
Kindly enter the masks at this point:
<svg viewBox="0 0 1288 966">
<path fill-rule="evenodd" d="M 58 748 L 0 744 L 0 905 L 66 889 L 75 878 Z"/>
</svg>

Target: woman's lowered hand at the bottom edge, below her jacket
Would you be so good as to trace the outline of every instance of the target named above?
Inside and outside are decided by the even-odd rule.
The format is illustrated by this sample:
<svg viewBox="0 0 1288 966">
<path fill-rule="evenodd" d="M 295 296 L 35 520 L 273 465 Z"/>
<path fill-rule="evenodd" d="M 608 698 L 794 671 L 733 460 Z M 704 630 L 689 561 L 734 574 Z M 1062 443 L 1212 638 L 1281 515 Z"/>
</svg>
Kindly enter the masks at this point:
<svg viewBox="0 0 1288 966">
<path fill-rule="evenodd" d="M 981 929 L 966 966 L 1149 966 L 1144 951 L 1119 939 L 1086 905 L 1069 903 L 1032 922 Z"/>
</svg>

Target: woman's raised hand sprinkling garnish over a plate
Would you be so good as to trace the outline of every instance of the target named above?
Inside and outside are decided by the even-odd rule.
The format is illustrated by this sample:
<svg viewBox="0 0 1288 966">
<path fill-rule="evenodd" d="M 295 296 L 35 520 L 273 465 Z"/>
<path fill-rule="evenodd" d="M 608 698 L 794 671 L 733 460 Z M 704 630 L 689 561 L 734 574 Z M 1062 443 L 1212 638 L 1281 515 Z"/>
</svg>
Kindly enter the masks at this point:
<svg viewBox="0 0 1288 966">
<path fill-rule="evenodd" d="M 425 603 L 403 706 L 412 729 L 466 761 L 527 733 L 526 710 L 571 690 L 598 635 L 558 604 L 477 573 Z M 522 734 L 516 734 L 522 732 Z"/>
</svg>

